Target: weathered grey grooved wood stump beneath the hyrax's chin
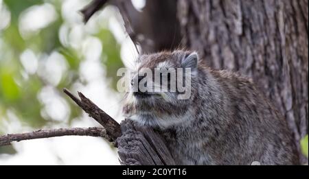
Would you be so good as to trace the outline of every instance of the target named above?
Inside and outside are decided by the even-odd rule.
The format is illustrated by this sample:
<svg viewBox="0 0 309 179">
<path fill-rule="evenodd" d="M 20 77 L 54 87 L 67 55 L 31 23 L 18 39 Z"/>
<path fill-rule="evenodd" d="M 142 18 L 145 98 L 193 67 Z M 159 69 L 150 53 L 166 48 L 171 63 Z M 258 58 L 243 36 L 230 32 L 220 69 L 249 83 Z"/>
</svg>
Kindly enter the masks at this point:
<svg viewBox="0 0 309 179">
<path fill-rule="evenodd" d="M 117 139 L 122 165 L 175 165 L 161 135 L 152 128 L 122 121 L 122 136 Z"/>
</svg>

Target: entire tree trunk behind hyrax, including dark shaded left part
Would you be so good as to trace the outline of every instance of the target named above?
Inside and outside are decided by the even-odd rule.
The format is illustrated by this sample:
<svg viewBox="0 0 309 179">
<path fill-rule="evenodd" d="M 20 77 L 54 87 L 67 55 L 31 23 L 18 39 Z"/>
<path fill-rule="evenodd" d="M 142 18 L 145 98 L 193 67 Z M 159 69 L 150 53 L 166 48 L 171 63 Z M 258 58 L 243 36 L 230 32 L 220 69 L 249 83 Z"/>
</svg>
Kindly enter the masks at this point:
<svg viewBox="0 0 309 179">
<path fill-rule="evenodd" d="M 186 47 L 214 69 L 252 77 L 286 117 L 300 151 L 308 133 L 308 0 L 146 0 L 143 12 L 131 1 L 111 3 L 144 52 Z"/>
</svg>

